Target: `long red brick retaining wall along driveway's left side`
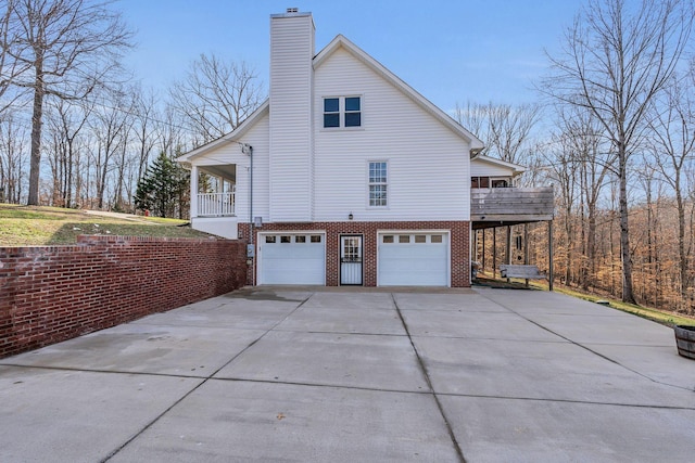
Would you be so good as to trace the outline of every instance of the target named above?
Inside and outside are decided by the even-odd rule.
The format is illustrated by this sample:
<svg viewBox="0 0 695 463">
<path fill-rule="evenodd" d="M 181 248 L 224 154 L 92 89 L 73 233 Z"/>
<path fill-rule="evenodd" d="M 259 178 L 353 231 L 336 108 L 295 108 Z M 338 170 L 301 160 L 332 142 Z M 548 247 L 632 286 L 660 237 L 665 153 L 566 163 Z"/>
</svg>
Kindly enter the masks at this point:
<svg viewBox="0 0 695 463">
<path fill-rule="evenodd" d="M 79 236 L 0 248 L 0 357 L 233 291 L 245 242 Z"/>
</svg>

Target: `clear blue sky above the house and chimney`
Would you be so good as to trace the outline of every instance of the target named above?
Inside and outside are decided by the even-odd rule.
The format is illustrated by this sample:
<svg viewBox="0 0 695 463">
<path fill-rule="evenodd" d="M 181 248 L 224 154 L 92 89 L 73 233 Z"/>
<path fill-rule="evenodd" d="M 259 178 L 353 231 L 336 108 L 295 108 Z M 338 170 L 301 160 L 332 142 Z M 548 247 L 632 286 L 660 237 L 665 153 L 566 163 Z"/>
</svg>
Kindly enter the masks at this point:
<svg viewBox="0 0 695 463">
<path fill-rule="evenodd" d="M 165 92 L 201 53 L 245 62 L 267 89 L 269 17 L 311 12 L 316 52 L 342 34 L 440 108 L 539 100 L 582 0 L 121 0 L 135 30 L 125 65 Z"/>
</svg>

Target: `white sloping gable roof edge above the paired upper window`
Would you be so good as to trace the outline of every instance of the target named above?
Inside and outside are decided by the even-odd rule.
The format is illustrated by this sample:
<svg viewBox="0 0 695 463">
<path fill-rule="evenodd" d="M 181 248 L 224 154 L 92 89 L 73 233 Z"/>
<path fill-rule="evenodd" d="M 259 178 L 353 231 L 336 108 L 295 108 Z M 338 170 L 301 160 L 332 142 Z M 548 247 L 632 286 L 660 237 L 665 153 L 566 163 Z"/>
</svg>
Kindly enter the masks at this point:
<svg viewBox="0 0 695 463">
<path fill-rule="evenodd" d="M 395 74 L 390 72 L 386 66 L 379 63 L 377 60 L 367 54 L 359 47 L 348 40 L 344 36 L 338 35 L 330 43 L 328 43 L 316 56 L 314 56 L 314 69 L 319 67 L 328 57 L 333 54 L 337 50 L 343 49 L 352 54 L 354 57 L 359 60 L 362 63 L 367 65 L 374 72 L 383 77 L 388 82 L 397 88 L 405 95 L 410 98 L 416 104 L 418 104 L 422 110 L 434 116 L 440 123 L 448 127 L 455 133 L 459 134 L 464 139 L 470 142 L 470 147 L 472 152 L 478 152 L 484 147 L 482 141 L 478 139 L 475 134 L 466 130 L 460 124 L 454 120 L 448 114 L 444 113 L 442 110 L 432 104 L 429 100 L 418 93 L 413 87 L 405 83 L 401 78 L 399 78 Z"/>
</svg>

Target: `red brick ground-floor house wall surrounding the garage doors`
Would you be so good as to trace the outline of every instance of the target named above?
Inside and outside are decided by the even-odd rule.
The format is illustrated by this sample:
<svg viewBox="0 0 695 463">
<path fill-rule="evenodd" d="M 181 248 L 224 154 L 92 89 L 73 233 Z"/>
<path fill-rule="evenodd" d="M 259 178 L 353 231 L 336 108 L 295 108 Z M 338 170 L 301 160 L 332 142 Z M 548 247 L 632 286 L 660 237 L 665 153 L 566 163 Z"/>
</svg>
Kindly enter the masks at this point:
<svg viewBox="0 0 695 463">
<path fill-rule="evenodd" d="M 377 232 L 386 230 L 447 230 L 451 232 L 451 285 L 470 286 L 470 222 L 468 221 L 384 221 L 384 222 L 311 222 L 311 223 L 264 223 L 254 229 L 257 233 L 273 231 L 326 231 L 326 285 L 340 284 L 340 235 L 364 235 L 364 285 L 377 285 Z M 239 223 L 243 240 L 249 239 L 249 223 Z M 248 284 L 252 284 L 253 272 L 249 269 Z"/>
</svg>

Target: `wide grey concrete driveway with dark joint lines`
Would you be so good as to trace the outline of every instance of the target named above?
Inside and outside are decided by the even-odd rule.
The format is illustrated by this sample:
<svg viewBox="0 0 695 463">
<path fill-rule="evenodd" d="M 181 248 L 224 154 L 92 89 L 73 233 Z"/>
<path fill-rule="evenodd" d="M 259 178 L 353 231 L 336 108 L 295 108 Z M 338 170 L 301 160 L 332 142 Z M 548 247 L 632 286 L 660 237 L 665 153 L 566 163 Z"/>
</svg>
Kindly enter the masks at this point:
<svg viewBox="0 0 695 463">
<path fill-rule="evenodd" d="M 559 294 L 253 288 L 0 360 L 7 462 L 692 462 L 672 330 Z"/>
</svg>

